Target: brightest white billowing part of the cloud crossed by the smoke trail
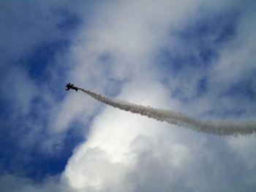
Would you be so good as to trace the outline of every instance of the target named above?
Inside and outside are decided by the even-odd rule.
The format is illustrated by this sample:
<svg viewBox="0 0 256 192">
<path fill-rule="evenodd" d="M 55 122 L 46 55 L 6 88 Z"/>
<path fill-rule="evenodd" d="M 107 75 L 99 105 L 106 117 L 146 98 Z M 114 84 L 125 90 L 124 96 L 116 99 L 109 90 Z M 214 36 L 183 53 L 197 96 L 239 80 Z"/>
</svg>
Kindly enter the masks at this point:
<svg viewBox="0 0 256 192">
<path fill-rule="evenodd" d="M 160 101 L 158 106 L 163 107 L 167 99 L 161 85 L 152 83 L 148 96 L 143 94 L 145 87 L 140 92 L 136 91 L 138 84 L 127 87 L 129 91 L 136 92 L 136 95 L 133 94 L 135 96 L 133 99 L 131 96 L 128 97 L 143 104 L 150 104 L 157 99 Z M 134 91 L 132 92 L 135 93 Z M 159 92 L 158 96 L 154 94 L 157 92 Z M 127 96 L 127 94 L 121 95 Z M 94 119 L 88 142 L 75 150 L 75 154 L 69 159 L 64 177 L 78 190 L 94 188 L 105 191 L 106 188 L 110 190 L 118 188 L 119 182 L 122 182 L 122 177 L 127 172 L 127 166 L 129 167 L 134 161 L 134 154 L 130 150 L 132 142 L 140 136 L 154 139 L 158 134 L 162 134 L 165 128 L 167 125 L 163 126 L 162 123 L 154 120 L 108 107 Z M 182 158 L 182 154 L 178 158 Z"/>
</svg>

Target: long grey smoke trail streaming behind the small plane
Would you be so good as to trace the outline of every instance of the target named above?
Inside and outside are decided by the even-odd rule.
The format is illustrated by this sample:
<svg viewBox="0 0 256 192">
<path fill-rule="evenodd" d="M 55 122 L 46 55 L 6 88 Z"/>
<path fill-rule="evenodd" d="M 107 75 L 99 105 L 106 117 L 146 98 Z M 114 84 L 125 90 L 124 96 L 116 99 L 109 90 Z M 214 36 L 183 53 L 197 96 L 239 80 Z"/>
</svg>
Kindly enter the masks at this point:
<svg viewBox="0 0 256 192">
<path fill-rule="evenodd" d="M 216 135 L 233 135 L 233 134 L 252 134 L 256 132 L 256 124 L 248 122 L 215 122 L 210 120 L 199 120 L 197 118 L 188 117 L 180 112 L 174 112 L 171 110 L 161 110 L 152 107 L 145 107 L 138 104 L 132 104 L 128 101 L 122 101 L 119 99 L 110 99 L 106 96 L 102 96 L 99 93 L 94 93 L 83 88 L 78 88 L 80 91 L 89 94 L 89 96 L 102 101 L 112 107 L 116 107 L 121 110 L 129 111 L 132 113 L 138 113 L 148 118 L 153 118 L 159 121 L 165 121 L 167 123 L 175 124 L 177 126 L 184 126 L 192 128 L 195 131 L 204 132 L 207 134 Z"/>
</svg>

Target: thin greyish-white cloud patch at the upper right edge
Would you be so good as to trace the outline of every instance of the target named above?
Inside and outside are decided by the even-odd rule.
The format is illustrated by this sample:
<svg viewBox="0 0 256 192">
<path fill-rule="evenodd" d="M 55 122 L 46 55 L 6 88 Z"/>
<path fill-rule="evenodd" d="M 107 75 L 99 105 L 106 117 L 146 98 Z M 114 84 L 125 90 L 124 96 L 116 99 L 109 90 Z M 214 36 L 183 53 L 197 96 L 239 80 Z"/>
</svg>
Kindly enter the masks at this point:
<svg viewBox="0 0 256 192">
<path fill-rule="evenodd" d="M 252 7 L 244 6 L 243 14 L 239 19 L 236 37 L 233 41 L 227 43 L 219 55 L 219 62 L 212 72 L 212 79 L 217 85 L 228 86 L 232 82 L 237 82 L 244 77 L 244 74 L 251 77 L 255 72 L 255 50 L 256 43 L 255 30 L 255 12 Z M 224 84 L 224 85 L 223 85 Z"/>
</svg>

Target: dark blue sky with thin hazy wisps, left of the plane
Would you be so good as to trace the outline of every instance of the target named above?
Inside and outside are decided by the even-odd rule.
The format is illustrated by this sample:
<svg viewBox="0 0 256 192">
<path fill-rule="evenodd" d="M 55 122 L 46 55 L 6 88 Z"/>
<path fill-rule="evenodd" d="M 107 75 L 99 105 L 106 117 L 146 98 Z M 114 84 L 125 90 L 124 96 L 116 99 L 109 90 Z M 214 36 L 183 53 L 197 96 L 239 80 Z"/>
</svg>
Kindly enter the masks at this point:
<svg viewBox="0 0 256 192">
<path fill-rule="evenodd" d="M 57 174 L 80 140 L 80 136 L 69 134 L 74 137 L 69 137 L 73 141 L 66 148 L 68 131 L 53 133 L 50 124 L 63 97 L 59 87 L 64 86 L 68 64 L 62 55 L 80 25 L 77 15 L 62 3 L 0 2 L 2 172 L 34 180 Z M 79 126 L 73 124 L 71 129 L 75 132 Z M 56 160 L 59 165 L 49 168 Z"/>
</svg>

